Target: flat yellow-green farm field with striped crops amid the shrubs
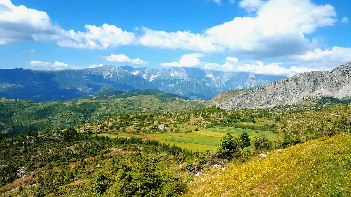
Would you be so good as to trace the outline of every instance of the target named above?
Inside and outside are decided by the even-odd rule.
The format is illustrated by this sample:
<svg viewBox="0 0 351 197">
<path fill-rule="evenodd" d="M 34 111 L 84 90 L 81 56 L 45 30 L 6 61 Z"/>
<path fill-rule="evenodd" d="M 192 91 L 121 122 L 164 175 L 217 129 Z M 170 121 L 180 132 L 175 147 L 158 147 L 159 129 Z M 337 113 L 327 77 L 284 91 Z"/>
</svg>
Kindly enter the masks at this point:
<svg viewBox="0 0 351 197">
<path fill-rule="evenodd" d="M 226 135 L 226 133 L 230 133 L 233 135 L 240 135 L 244 130 L 249 132 L 249 136 L 265 136 L 270 139 L 275 139 L 276 135 L 269 132 L 269 131 L 258 131 L 256 133 L 254 130 L 251 129 L 240 129 L 240 128 L 231 128 L 231 127 L 220 127 L 219 128 L 209 128 L 205 130 L 193 131 L 193 132 L 167 132 L 167 133 L 145 133 L 145 134 L 128 134 L 118 132 L 118 135 L 111 134 L 111 133 L 102 133 L 99 135 L 108 136 L 111 138 L 130 138 L 131 136 L 135 136 L 138 138 L 143 139 L 150 139 L 150 140 L 158 140 L 161 143 L 170 143 L 181 148 L 185 148 L 192 151 L 199 151 L 203 152 L 205 150 L 212 150 L 218 148 L 218 141 Z M 250 148 L 250 147 L 248 147 Z"/>
</svg>

